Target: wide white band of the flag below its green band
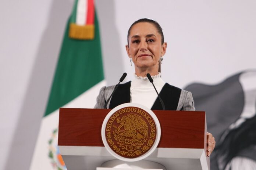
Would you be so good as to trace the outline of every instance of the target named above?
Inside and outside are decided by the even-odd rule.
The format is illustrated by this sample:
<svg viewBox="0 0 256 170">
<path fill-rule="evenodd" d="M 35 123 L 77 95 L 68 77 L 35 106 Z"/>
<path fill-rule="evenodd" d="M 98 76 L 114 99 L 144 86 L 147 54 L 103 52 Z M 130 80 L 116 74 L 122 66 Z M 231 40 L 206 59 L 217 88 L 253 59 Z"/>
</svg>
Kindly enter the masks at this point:
<svg viewBox="0 0 256 170">
<path fill-rule="evenodd" d="M 93 108 L 96 104 L 96 97 L 99 94 L 100 88 L 102 86 L 106 86 L 105 80 L 85 91 L 83 94 L 79 95 L 77 98 L 64 105 L 63 108 Z M 53 130 L 58 128 L 58 118 L 59 109 L 47 115 L 46 117 L 43 117 L 33 153 L 33 158 L 31 161 L 30 170 L 54 170 L 53 166 L 51 165 L 51 160 L 47 156 L 49 154 L 48 141 L 51 138 Z M 54 140 L 54 145 L 56 146 L 57 141 L 58 135 Z"/>
</svg>

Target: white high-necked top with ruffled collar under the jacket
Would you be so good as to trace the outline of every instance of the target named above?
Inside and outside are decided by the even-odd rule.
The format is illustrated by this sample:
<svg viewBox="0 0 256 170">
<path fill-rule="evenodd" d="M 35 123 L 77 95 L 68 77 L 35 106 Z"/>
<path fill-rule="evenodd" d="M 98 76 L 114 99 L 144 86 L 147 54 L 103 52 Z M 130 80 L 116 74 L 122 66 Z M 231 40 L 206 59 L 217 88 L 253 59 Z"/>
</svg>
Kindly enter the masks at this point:
<svg viewBox="0 0 256 170">
<path fill-rule="evenodd" d="M 130 95 L 131 102 L 139 103 L 147 108 L 152 108 L 154 102 L 156 101 L 157 94 L 154 90 L 152 83 L 149 82 L 147 77 L 138 77 L 135 75 L 135 79 L 131 82 Z M 161 79 L 161 73 L 158 73 L 156 76 L 152 76 L 154 80 L 154 86 L 158 93 L 164 87 L 164 81 Z"/>
</svg>

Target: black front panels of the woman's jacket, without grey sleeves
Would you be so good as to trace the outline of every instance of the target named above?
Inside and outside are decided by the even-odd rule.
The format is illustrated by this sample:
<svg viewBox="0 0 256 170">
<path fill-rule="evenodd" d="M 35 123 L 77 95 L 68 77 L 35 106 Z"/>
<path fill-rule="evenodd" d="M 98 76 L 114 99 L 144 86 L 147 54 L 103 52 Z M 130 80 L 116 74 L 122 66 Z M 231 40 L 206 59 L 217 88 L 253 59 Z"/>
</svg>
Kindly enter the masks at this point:
<svg viewBox="0 0 256 170">
<path fill-rule="evenodd" d="M 118 86 L 117 90 L 115 91 L 115 93 L 111 98 L 111 101 L 109 104 L 110 109 L 113 109 L 120 104 L 128 103 L 131 101 L 130 87 L 131 87 L 131 81 L 124 84 L 120 84 Z M 180 94 L 181 94 L 180 88 L 171 86 L 168 83 L 164 84 L 164 87 L 160 91 L 159 95 L 164 102 L 166 110 L 175 111 L 177 109 Z M 159 98 L 156 99 L 151 109 L 163 110 Z"/>
</svg>

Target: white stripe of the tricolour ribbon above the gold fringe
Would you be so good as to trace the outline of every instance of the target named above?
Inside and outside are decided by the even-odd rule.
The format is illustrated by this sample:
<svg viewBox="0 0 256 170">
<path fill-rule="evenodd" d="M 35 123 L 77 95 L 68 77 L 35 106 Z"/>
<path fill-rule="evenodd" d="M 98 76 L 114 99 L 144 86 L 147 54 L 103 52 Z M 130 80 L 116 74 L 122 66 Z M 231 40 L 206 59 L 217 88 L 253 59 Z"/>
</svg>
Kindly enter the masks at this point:
<svg viewBox="0 0 256 170">
<path fill-rule="evenodd" d="M 77 25 L 85 25 L 88 10 L 88 0 L 78 0 L 77 2 Z"/>
</svg>

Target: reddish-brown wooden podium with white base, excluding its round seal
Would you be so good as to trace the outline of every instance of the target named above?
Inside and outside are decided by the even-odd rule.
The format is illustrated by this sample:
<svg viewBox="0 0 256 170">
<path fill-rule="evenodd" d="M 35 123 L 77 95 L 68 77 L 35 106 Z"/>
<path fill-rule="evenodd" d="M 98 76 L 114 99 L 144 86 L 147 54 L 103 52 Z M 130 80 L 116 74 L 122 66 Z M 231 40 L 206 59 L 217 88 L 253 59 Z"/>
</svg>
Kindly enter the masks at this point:
<svg viewBox="0 0 256 170">
<path fill-rule="evenodd" d="M 58 147 L 68 170 L 96 170 L 116 159 L 104 147 L 101 127 L 111 109 L 60 108 Z M 205 112 L 153 110 L 161 126 L 161 139 L 144 160 L 167 170 L 209 170 L 206 156 Z"/>
</svg>

